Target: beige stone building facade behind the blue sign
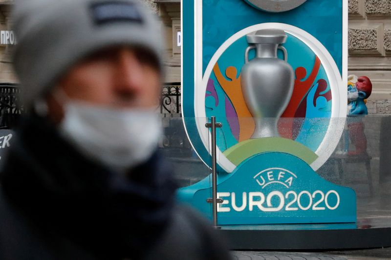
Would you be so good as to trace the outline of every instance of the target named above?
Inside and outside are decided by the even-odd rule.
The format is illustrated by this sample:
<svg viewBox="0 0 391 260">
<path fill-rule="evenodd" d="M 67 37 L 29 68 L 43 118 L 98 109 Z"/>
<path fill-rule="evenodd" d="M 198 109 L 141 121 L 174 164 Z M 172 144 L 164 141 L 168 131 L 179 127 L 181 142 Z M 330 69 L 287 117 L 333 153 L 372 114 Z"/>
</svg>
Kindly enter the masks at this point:
<svg viewBox="0 0 391 260">
<path fill-rule="evenodd" d="M 166 38 L 166 82 L 181 81 L 180 0 L 144 1 L 161 20 Z M 0 0 L 0 83 L 17 83 L 11 52 L 16 44 L 10 10 L 13 0 Z M 349 74 L 368 76 L 373 93 L 369 114 L 391 114 L 391 0 L 349 0 Z M 183 86 L 186 87 L 186 86 Z"/>
</svg>

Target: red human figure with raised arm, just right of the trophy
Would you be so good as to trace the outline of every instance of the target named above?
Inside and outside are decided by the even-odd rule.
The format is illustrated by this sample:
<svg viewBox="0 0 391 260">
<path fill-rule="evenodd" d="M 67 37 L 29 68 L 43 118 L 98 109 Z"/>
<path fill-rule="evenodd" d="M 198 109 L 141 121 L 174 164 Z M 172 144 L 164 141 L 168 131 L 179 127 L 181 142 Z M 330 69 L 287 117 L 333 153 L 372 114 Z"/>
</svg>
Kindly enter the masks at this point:
<svg viewBox="0 0 391 260">
<path fill-rule="evenodd" d="M 298 110 L 300 103 L 302 102 L 302 100 L 304 100 L 305 95 L 313 85 L 314 80 L 316 79 L 319 73 L 320 66 L 321 66 L 321 60 L 318 58 L 318 56 L 315 56 L 315 64 L 312 68 L 311 74 L 305 80 L 304 78 L 307 76 L 306 69 L 304 67 L 298 67 L 295 70 L 296 80 L 295 80 L 295 86 L 293 89 L 292 98 L 289 101 L 289 104 L 286 107 L 284 113 L 282 114 L 282 118 L 295 117 L 296 111 Z M 282 137 L 287 139 L 293 139 L 293 120 L 281 120 L 279 128 L 280 128 L 280 135 Z"/>
</svg>

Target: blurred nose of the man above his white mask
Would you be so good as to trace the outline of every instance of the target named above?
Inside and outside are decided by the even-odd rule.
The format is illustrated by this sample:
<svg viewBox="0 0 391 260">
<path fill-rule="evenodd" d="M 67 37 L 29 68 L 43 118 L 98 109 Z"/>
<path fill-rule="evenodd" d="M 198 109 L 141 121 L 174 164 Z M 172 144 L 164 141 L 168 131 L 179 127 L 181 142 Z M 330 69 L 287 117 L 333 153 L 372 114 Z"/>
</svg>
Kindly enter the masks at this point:
<svg viewBox="0 0 391 260">
<path fill-rule="evenodd" d="M 142 91 L 145 79 L 143 65 L 135 54 L 129 49 L 120 49 L 115 69 L 115 91 L 124 99 L 132 99 L 137 96 Z"/>
</svg>

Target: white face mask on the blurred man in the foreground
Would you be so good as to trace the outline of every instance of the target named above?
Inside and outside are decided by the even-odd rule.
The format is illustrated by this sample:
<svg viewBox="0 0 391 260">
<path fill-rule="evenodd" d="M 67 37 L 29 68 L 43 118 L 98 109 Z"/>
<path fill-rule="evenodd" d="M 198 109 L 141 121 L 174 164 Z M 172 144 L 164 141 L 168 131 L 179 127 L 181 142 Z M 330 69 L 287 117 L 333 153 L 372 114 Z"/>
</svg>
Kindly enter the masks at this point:
<svg viewBox="0 0 391 260">
<path fill-rule="evenodd" d="M 60 132 L 87 157 L 126 170 L 152 156 L 162 127 L 152 109 L 116 109 L 68 100 Z"/>
</svg>

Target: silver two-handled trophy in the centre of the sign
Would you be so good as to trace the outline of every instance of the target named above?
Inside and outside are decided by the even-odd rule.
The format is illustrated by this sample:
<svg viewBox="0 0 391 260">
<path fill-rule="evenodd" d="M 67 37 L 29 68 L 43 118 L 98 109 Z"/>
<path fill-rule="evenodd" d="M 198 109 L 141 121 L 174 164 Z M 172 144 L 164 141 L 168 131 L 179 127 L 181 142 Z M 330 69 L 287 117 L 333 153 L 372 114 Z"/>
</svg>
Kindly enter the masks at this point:
<svg viewBox="0 0 391 260">
<path fill-rule="evenodd" d="M 252 139 L 280 137 L 277 123 L 292 97 L 295 82 L 293 68 L 287 62 L 287 51 L 281 45 L 286 39 L 286 33 L 277 29 L 247 35 L 250 46 L 245 52 L 241 86 L 247 107 L 255 118 Z M 256 56 L 249 61 L 252 49 L 256 49 Z M 284 60 L 277 57 L 279 49 Z"/>
</svg>

